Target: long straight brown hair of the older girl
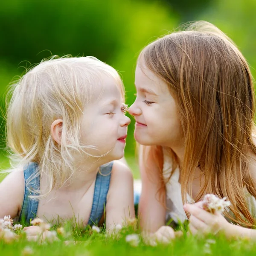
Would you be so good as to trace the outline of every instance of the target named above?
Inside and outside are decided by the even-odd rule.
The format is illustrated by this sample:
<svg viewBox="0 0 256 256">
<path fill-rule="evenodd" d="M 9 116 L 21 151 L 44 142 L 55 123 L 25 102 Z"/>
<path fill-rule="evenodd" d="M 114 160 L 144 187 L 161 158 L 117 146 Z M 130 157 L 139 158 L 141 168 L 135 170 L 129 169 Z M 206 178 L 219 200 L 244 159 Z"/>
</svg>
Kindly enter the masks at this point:
<svg viewBox="0 0 256 256">
<path fill-rule="evenodd" d="M 140 53 L 146 66 L 166 84 L 174 96 L 184 134 L 185 157 L 180 166 L 183 203 L 192 197 L 192 179 L 200 166 L 204 193 L 226 196 L 231 202 L 225 215 L 252 227 L 255 220 L 247 207 L 246 190 L 256 197 L 256 184 L 248 168 L 253 143 L 254 87 L 247 61 L 236 45 L 214 25 L 199 21 L 186 30 L 165 35 Z M 161 147 L 143 146 L 143 161 L 157 159 L 163 180 Z M 179 165 L 171 151 L 173 170 Z M 150 169 L 148 170 L 150 172 Z M 161 190 L 167 180 L 163 180 Z M 162 201 L 163 202 L 163 201 Z"/>
</svg>

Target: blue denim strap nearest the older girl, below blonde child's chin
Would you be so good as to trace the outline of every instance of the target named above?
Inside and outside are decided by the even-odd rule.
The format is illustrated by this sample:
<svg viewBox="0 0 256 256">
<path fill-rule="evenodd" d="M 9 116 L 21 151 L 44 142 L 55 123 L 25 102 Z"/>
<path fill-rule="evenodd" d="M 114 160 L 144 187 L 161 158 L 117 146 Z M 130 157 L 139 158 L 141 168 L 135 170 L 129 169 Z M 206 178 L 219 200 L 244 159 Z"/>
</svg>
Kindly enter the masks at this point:
<svg viewBox="0 0 256 256">
<path fill-rule="evenodd" d="M 93 206 L 88 225 L 98 225 L 105 212 L 112 166 L 113 162 L 103 165 L 97 173 L 93 195 Z"/>
</svg>

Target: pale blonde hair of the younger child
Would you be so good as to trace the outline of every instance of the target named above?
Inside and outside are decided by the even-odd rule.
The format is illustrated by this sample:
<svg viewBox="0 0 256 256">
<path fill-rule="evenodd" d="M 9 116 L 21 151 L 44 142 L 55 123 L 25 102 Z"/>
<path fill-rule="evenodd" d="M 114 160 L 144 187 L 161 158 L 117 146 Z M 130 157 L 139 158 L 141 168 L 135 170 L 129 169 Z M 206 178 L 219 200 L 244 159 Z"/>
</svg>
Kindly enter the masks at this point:
<svg viewBox="0 0 256 256">
<path fill-rule="evenodd" d="M 39 172 L 28 183 L 44 174 L 49 185 L 45 195 L 72 177 L 74 152 L 88 154 L 87 149 L 93 148 L 80 144 L 81 116 L 97 85 L 104 84 L 103 76 L 117 81 L 124 98 L 116 70 L 90 56 L 43 60 L 12 85 L 6 120 L 11 161 L 18 160 L 22 165 L 38 163 Z M 50 131 L 56 119 L 63 119 L 61 145 L 53 140 Z"/>
</svg>

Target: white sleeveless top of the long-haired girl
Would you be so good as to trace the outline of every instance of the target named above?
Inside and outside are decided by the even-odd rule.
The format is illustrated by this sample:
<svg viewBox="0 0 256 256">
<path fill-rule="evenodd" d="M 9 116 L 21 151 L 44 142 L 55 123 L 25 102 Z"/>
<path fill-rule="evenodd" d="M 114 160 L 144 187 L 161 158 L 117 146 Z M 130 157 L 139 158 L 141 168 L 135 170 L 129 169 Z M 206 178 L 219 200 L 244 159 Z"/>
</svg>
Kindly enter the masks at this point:
<svg viewBox="0 0 256 256">
<path fill-rule="evenodd" d="M 168 151 L 163 148 L 163 177 L 168 179 L 172 172 L 172 160 L 169 157 Z M 166 183 L 166 223 L 173 219 L 176 223 L 187 220 L 186 213 L 183 209 L 181 186 L 179 183 L 180 170 L 177 168 L 170 180 Z M 187 201 L 193 203 L 194 200 L 187 194 Z M 253 218 L 256 218 L 256 199 L 247 192 L 247 206 Z M 230 214 L 233 215 L 232 212 Z M 179 221 L 178 221 L 179 220 Z M 227 219 L 230 221 L 229 219 Z"/>
</svg>

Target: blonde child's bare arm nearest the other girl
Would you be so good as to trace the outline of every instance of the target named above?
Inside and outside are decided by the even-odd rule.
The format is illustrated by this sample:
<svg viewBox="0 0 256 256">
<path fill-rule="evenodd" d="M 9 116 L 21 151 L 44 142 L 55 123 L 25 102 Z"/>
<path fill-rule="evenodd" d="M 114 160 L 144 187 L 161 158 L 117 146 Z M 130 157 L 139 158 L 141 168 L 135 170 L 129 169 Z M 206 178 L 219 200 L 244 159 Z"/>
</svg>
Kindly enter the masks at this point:
<svg viewBox="0 0 256 256">
<path fill-rule="evenodd" d="M 135 218 L 133 176 L 125 164 L 115 161 L 106 204 L 107 230 L 127 218 Z"/>
</svg>

